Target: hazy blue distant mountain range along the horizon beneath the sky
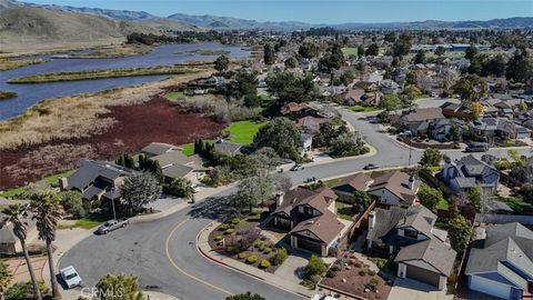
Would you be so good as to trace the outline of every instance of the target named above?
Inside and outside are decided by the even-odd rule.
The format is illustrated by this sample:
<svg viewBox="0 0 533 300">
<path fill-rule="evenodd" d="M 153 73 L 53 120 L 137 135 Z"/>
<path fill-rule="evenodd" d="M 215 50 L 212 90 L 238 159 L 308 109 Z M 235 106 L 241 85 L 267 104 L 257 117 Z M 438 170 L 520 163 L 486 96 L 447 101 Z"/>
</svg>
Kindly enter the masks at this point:
<svg viewBox="0 0 533 300">
<path fill-rule="evenodd" d="M 33 4 L 27 2 L 20 2 L 17 0 L 0 0 L 0 32 L 6 30 L 6 21 L 2 26 L 2 14 L 6 11 L 18 9 L 17 16 L 20 16 L 21 10 L 28 10 L 24 14 L 26 18 L 31 17 L 32 14 L 39 14 L 39 19 L 47 19 L 49 12 L 43 12 L 40 10 L 56 11 L 61 13 L 83 13 L 83 18 L 89 18 L 87 14 L 92 14 L 93 17 L 111 19 L 117 24 L 114 27 L 132 27 L 132 29 L 141 29 L 142 32 L 152 32 L 152 30 L 232 30 L 232 29 L 262 29 L 262 30 L 298 30 L 298 29 L 310 29 L 318 27 L 333 27 L 336 29 L 343 30 L 354 30 L 354 29 L 487 29 L 487 28 L 533 28 L 533 17 L 523 17 L 523 18 L 509 18 L 509 19 L 494 19 L 489 21 L 419 21 L 419 22 L 388 22 L 388 23 L 361 23 L 361 22 L 351 22 L 351 23 L 339 23 L 339 24 L 311 24 L 305 22 L 296 21 L 286 21 L 286 22 L 260 22 L 254 20 L 245 20 L 239 18 L 230 17 L 217 17 L 217 16 L 191 16 L 184 13 L 174 13 L 167 18 L 157 17 L 144 11 L 129 11 L 129 10 L 110 10 L 110 9 L 99 9 L 99 8 L 76 8 L 67 6 L 56 6 L 56 4 Z M 37 9 L 37 10 L 36 10 Z M 13 13 L 11 13 L 13 14 Z M 44 16 L 44 17 L 43 17 Z M 56 17 L 62 17 L 54 14 Z M 73 14 L 70 14 L 69 18 L 72 18 Z M 9 17 L 9 16 L 8 16 Z M 7 17 L 3 16 L 3 19 Z M 10 21 L 12 16 L 7 18 Z M 37 17 L 36 17 L 37 18 Z M 67 17 L 66 17 L 67 18 Z M 32 19 L 32 18 L 30 18 Z M 61 19 L 61 18 L 60 18 Z M 17 23 L 22 22 L 22 20 L 16 20 Z M 53 22 L 53 20 L 47 20 Z M 100 21 L 99 21 L 100 22 Z M 36 23 L 39 26 L 39 23 Z M 33 24 L 33 26 L 36 26 Z M 28 27 L 29 29 L 31 27 Z M 92 28 L 92 27 L 91 27 Z M 12 28 L 13 29 L 13 28 Z M 123 30 L 123 32 L 130 30 Z M 123 33 L 121 32 L 121 33 Z"/>
</svg>

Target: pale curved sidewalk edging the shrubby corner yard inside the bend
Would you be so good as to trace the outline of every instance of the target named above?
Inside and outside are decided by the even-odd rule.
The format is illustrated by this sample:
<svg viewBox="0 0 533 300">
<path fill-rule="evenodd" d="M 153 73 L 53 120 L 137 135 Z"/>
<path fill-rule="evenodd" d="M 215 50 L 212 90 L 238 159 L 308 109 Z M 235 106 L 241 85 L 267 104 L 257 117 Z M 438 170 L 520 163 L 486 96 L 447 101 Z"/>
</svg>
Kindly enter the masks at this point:
<svg viewBox="0 0 533 300">
<path fill-rule="evenodd" d="M 255 279 L 262 280 L 271 286 L 284 289 L 286 291 L 290 291 L 300 296 L 311 297 L 315 293 L 315 291 L 309 290 L 308 288 L 300 286 L 300 282 L 298 280 L 291 280 L 290 278 L 284 278 L 273 273 L 264 272 L 258 269 L 257 267 L 242 263 L 232 258 L 229 258 L 215 252 L 209 246 L 208 239 L 211 231 L 213 231 L 219 224 L 220 223 L 217 221 L 211 222 L 209 226 L 207 226 L 204 229 L 202 229 L 202 231 L 198 233 L 197 248 L 200 251 L 200 253 L 203 257 L 205 257 L 205 259 L 212 260 L 221 266 L 240 271 L 241 273 L 248 274 Z"/>
</svg>

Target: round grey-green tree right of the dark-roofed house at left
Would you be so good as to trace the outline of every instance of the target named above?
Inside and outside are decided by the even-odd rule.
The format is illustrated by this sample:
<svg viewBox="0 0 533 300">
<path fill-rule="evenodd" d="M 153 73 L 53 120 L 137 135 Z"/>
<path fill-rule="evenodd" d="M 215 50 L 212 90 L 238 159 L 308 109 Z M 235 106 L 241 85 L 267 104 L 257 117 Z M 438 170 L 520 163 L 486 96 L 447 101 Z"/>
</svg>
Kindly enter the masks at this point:
<svg viewBox="0 0 533 300">
<path fill-rule="evenodd" d="M 133 172 L 120 186 L 120 194 L 132 214 L 161 196 L 161 184 L 149 172 Z"/>
</svg>

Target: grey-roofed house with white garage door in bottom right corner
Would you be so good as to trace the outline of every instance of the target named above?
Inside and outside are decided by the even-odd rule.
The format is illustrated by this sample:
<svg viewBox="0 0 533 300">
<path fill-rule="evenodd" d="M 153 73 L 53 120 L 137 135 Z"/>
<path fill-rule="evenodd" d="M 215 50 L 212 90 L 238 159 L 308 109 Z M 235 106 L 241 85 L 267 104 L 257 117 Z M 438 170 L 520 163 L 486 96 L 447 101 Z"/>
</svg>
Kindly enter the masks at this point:
<svg viewBox="0 0 533 300">
<path fill-rule="evenodd" d="M 513 222 L 490 226 L 480 248 L 470 251 L 469 289 L 501 299 L 533 293 L 533 231 Z"/>
</svg>

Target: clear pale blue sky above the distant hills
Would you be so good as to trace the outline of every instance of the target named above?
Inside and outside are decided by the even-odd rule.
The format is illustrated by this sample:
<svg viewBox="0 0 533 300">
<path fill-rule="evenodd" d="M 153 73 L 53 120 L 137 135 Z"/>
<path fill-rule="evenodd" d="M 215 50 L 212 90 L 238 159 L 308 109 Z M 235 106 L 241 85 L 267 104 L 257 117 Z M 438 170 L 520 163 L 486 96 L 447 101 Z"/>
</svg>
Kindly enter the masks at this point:
<svg viewBox="0 0 533 300">
<path fill-rule="evenodd" d="M 462 21 L 533 17 L 533 0 L 23 0 L 102 9 L 309 23 Z"/>
</svg>

